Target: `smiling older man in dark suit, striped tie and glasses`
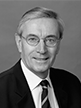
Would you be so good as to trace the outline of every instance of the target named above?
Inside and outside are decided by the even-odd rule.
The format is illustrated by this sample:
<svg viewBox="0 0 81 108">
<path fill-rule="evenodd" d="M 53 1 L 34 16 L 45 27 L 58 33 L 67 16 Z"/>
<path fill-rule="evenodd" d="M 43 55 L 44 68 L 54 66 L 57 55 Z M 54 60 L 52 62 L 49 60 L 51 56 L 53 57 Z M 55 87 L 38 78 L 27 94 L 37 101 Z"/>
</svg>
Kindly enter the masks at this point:
<svg viewBox="0 0 81 108">
<path fill-rule="evenodd" d="M 62 35 L 63 22 L 49 9 L 36 7 L 22 16 L 15 34 L 21 59 L 0 75 L 0 108 L 81 108 L 78 78 L 51 68 Z"/>
</svg>

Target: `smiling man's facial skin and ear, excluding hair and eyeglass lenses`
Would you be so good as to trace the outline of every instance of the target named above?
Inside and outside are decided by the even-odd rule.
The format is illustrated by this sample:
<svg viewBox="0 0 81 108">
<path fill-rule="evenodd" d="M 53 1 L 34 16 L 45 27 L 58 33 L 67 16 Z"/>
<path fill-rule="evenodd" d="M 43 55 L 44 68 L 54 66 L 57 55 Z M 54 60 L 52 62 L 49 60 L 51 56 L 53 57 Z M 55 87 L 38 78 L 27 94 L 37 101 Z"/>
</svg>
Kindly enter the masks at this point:
<svg viewBox="0 0 81 108">
<path fill-rule="evenodd" d="M 51 18 L 39 18 L 27 21 L 23 26 L 23 37 L 37 36 L 40 42 L 36 46 L 29 45 L 24 38 L 18 36 L 17 45 L 25 66 L 41 78 L 47 76 L 47 70 L 53 64 L 59 48 L 45 45 L 44 38 L 59 36 L 58 23 Z"/>
</svg>

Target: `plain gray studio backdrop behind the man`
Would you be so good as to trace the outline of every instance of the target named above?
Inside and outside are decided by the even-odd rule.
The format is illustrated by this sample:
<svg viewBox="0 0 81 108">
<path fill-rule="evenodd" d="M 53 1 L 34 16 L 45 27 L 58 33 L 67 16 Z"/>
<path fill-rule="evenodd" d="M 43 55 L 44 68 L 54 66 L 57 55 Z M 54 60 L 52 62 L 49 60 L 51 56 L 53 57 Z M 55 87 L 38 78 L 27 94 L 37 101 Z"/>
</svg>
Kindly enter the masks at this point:
<svg viewBox="0 0 81 108">
<path fill-rule="evenodd" d="M 65 22 L 54 67 L 66 69 L 81 80 L 81 0 L 0 0 L 0 72 L 19 59 L 14 34 L 22 14 L 35 6 L 53 9 Z"/>
</svg>

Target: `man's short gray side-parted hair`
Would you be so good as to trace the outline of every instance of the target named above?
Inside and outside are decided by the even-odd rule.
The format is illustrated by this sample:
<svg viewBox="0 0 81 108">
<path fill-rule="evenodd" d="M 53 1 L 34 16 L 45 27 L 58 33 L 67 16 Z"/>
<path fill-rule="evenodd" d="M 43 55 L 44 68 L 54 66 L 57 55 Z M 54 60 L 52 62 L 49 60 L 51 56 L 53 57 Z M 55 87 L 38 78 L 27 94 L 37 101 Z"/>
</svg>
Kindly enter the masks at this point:
<svg viewBox="0 0 81 108">
<path fill-rule="evenodd" d="M 62 38 L 63 31 L 64 31 L 64 23 L 62 19 L 59 17 L 59 15 L 56 12 L 53 12 L 50 9 L 44 8 L 44 7 L 35 7 L 23 14 L 21 17 L 21 20 L 18 25 L 17 34 L 19 36 L 22 36 L 22 29 L 21 26 L 28 20 L 32 19 L 38 19 L 38 18 L 53 18 L 56 19 L 59 26 L 59 38 Z"/>
</svg>

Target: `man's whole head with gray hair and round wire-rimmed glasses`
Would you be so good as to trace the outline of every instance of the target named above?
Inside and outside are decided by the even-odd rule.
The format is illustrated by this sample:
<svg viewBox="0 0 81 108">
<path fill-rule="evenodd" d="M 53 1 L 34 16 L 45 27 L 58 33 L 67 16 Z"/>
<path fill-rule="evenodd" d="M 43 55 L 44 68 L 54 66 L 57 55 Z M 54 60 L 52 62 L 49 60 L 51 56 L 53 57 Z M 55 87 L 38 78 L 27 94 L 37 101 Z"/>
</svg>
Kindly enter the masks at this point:
<svg viewBox="0 0 81 108">
<path fill-rule="evenodd" d="M 62 35 L 63 22 L 57 13 L 40 7 L 27 11 L 15 34 L 25 66 L 37 76 L 45 78 L 58 54 Z"/>
</svg>

